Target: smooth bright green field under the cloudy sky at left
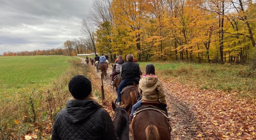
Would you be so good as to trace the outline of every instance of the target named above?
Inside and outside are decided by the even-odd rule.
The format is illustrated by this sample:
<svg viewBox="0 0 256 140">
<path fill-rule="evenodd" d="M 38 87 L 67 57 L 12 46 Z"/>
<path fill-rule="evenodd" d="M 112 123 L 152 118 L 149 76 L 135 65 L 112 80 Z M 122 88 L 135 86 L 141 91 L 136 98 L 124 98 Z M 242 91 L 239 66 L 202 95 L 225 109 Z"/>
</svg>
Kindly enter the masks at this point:
<svg viewBox="0 0 256 140">
<path fill-rule="evenodd" d="M 0 57 L 0 99 L 51 84 L 67 71 L 70 56 Z"/>
</svg>

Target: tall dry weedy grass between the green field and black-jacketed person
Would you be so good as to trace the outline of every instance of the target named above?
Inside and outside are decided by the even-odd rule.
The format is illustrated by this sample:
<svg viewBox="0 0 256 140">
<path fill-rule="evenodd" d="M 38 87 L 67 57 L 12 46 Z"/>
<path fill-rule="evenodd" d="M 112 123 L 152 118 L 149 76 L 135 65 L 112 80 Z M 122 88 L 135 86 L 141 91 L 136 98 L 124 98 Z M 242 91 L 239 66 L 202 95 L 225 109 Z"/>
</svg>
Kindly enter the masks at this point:
<svg viewBox="0 0 256 140">
<path fill-rule="evenodd" d="M 81 60 L 67 62 L 68 69 L 47 87 L 32 87 L 31 92 L 15 92 L 0 102 L 0 139 L 22 139 L 25 134 L 49 138 L 55 115 L 64 108 L 70 93 L 67 84 L 78 74 L 87 75 L 89 67 Z M 20 94 L 22 93 L 22 94 Z"/>
</svg>

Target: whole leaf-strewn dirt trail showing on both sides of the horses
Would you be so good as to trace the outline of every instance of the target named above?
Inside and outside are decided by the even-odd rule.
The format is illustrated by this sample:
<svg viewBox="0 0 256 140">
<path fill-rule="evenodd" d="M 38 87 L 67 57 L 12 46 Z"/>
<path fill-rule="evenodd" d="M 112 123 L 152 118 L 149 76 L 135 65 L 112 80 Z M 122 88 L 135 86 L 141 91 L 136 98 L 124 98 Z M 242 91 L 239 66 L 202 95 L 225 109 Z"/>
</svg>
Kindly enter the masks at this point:
<svg viewBox="0 0 256 140">
<path fill-rule="evenodd" d="M 80 57 L 77 57 L 77 58 L 82 59 Z M 85 63 L 84 60 L 85 59 L 82 59 L 82 63 Z M 97 81 L 100 81 L 101 76 L 100 76 L 100 73 L 96 71 L 96 67 L 90 65 L 90 70 L 93 71 L 93 74 L 92 74 L 93 76 L 97 76 Z M 111 64 L 109 64 L 109 67 L 107 70 L 107 79 L 104 78 L 103 80 L 105 97 L 108 98 L 107 101 L 114 101 L 116 99 L 116 91 L 113 90 L 113 86 L 110 85 L 111 72 L 112 72 L 112 67 L 111 67 Z M 189 104 L 186 104 L 183 101 L 178 100 L 178 98 L 175 97 L 175 95 L 171 91 L 167 90 L 168 89 L 167 87 L 169 86 L 175 86 L 175 84 L 163 83 L 163 87 L 166 93 L 168 114 L 169 116 L 171 116 L 171 121 L 172 121 L 171 123 L 172 140 L 200 139 L 199 137 L 196 137 L 196 135 L 204 134 L 204 133 L 201 127 L 198 125 L 195 113 L 192 111 Z M 100 86 L 99 86 L 99 90 L 100 90 Z M 106 96 L 106 94 L 108 94 L 108 96 Z M 106 106 L 111 106 L 111 103 L 107 103 Z"/>
</svg>

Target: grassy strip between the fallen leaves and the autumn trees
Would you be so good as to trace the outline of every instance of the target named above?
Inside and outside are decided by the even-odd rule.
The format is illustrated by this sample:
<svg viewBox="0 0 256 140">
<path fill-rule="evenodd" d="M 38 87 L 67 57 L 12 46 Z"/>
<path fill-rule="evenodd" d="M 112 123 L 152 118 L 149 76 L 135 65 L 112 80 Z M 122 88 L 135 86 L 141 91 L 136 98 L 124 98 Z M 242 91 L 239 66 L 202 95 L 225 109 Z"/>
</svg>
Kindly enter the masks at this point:
<svg viewBox="0 0 256 140">
<path fill-rule="evenodd" d="M 140 62 L 145 73 L 149 62 Z M 225 91 L 253 93 L 256 91 L 256 71 L 246 65 L 238 64 L 191 64 L 183 62 L 152 62 L 156 75 L 179 81 L 183 84 L 194 84 L 200 89 L 220 89 Z"/>
</svg>

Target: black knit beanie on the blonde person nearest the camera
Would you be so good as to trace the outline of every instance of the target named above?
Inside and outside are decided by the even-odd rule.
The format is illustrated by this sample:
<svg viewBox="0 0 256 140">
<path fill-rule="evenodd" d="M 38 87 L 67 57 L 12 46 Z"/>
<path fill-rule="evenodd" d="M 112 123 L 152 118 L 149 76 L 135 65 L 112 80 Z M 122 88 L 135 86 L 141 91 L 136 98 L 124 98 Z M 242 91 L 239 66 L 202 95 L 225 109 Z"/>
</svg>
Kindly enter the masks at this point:
<svg viewBox="0 0 256 140">
<path fill-rule="evenodd" d="M 68 90 L 75 99 L 83 99 L 92 92 L 92 85 L 88 78 L 77 75 L 70 80 Z"/>
</svg>

